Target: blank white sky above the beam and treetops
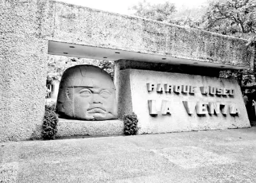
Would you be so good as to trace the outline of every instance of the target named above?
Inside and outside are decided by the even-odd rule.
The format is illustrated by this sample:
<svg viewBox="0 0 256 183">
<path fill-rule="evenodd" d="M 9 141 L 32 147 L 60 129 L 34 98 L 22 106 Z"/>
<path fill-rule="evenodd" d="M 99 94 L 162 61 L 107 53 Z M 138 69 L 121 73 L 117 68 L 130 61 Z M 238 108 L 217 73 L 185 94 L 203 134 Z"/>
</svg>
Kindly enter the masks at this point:
<svg viewBox="0 0 256 183">
<path fill-rule="evenodd" d="M 94 8 L 98 10 L 110 11 L 114 13 L 120 13 L 124 15 L 132 15 L 133 11 L 128 10 L 134 5 L 137 5 L 139 2 L 143 0 L 57 0 L 62 1 L 64 3 L 76 4 L 80 6 L 86 6 L 89 8 Z M 174 3 L 176 7 L 179 9 L 183 6 L 188 8 L 196 8 L 204 3 L 207 0 L 147 0 L 150 4 L 158 4 L 165 3 L 169 1 L 170 3 Z"/>
</svg>

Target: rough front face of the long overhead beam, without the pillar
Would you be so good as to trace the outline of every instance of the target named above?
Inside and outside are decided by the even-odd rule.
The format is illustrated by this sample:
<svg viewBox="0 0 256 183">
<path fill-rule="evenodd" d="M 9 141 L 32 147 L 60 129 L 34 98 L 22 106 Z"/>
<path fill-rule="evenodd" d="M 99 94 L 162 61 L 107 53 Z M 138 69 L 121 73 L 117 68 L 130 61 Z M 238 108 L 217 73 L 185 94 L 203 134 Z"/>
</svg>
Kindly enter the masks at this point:
<svg viewBox="0 0 256 183">
<path fill-rule="evenodd" d="M 245 39 L 72 4 L 53 4 L 56 12 L 52 41 L 160 55 L 172 58 L 169 64 L 180 58 L 234 67 L 253 66 L 255 53 L 245 46 Z M 168 64 L 167 60 L 164 63 Z"/>
</svg>

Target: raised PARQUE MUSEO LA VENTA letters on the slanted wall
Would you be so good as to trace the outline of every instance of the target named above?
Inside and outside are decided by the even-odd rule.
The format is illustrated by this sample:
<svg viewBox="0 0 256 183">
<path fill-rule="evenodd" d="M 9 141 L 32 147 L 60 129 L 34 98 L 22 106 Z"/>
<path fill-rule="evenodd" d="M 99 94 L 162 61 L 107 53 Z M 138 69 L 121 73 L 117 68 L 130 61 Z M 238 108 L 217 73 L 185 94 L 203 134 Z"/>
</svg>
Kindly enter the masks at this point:
<svg viewBox="0 0 256 183">
<path fill-rule="evenodd" d="M 207 97 L 220 97 L 222 96 L 232 96 L 235 93 L 235 90 L 232 88 L 220 88 L 215 86 L 200 86 L 197 90 L 197 86 L 192 85 L 170 85 L 169 83 L 147 83 L 147 92 L 156 92 L 158 95 L 166 93 L 184 93 L 183 95 L 194 95 L 197 92 L 200 92 L 202 95 Z M 168 94 L 169 93 L 169 94 Z M 182 101 L 184 108 L 188 114 L 193 114 L 194 111 L 199 115 L 238 115 L 239 109 L 236 104 L 225 104 L 223 102 L 202 102 L 202 101 Z M 157 110 L 156 100 L 148 100 L 149 114 L 150 115 L 166 115 L 171 114 L 172 104 L 169 100 L 162 100 L 161 109 Z M 160 107 L 160 106 L 159 106 Z"/>
</svg>

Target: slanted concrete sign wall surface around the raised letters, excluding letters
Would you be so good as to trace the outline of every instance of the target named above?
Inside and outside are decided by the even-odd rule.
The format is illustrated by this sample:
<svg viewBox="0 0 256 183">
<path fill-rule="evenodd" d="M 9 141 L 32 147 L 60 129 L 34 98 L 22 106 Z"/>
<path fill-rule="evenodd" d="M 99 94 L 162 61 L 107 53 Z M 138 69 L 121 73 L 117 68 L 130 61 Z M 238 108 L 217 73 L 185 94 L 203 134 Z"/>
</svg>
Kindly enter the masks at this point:
<svg viewBox="0 0 256 183">
<path fill-rule="evenodd" d="M 234 79 L 220 79 L 209 76 L 196 76 L 180 73 L 142 71 L 124 69 L 120 71 L 118 92 L 118 115 L 135 112 L 139 119 L 139 133 L 186 132 L 193 130 L 216 130 L 227 128 L 248 128 L 250 121 L 247 116 L 242 93 Z M 124 84 L 123 84 L 124 83 Z M 147 91 L 147 83 L 154 84 L 152 92 Z M 196 86 L 195 93 L 156 92 L 157 84 L 172 86 Z M 200 86 L 234 89 L 234 95 L 203 95 Z M 149 114 L 148 100 L 156 101 L 156 115 Z M 162 101 L 170 101 L 170 113 L 162 115 Z M 220 102 L 234 105 L 239 109 L 238 115 L 230 114 L 197 114 L 193 106 L 193 114 L 188 114 L 183 101 L 190 104 L 197 102 Z M 209 105 L 208 105 L 209 107 Z M 209 109 L 207 109 L 209 111 Z"/>
</svg>

